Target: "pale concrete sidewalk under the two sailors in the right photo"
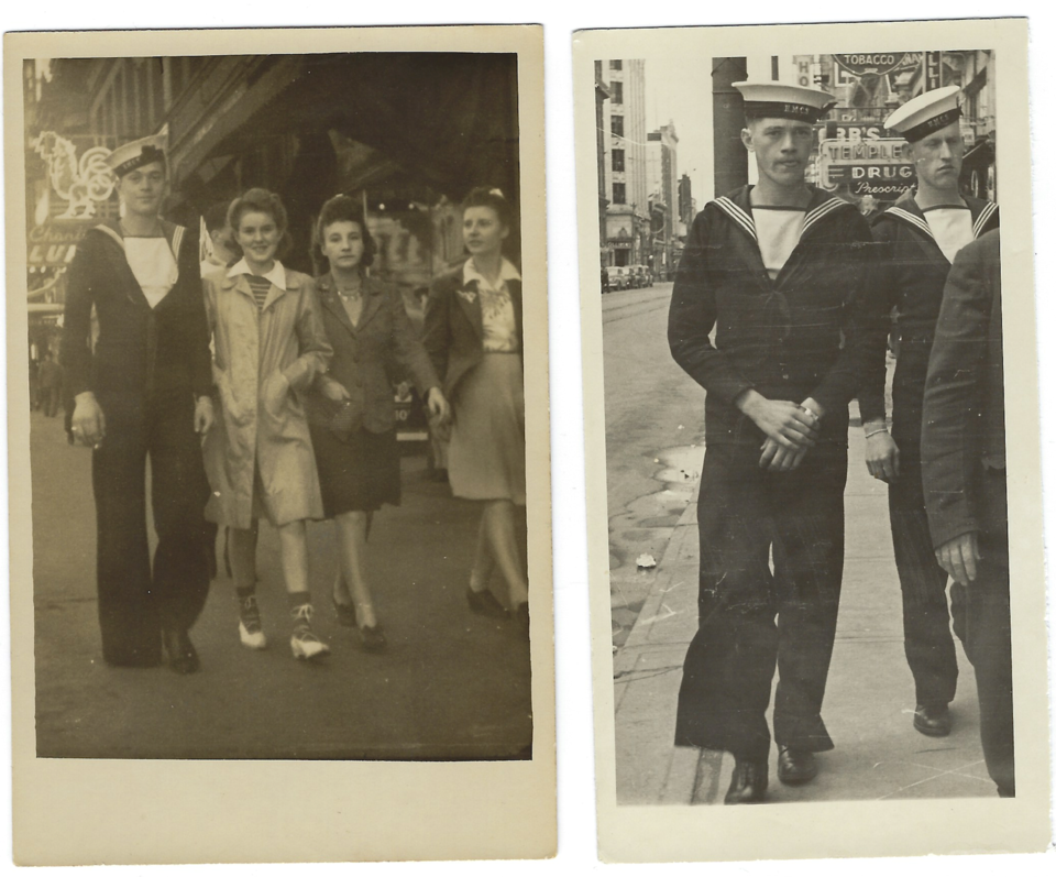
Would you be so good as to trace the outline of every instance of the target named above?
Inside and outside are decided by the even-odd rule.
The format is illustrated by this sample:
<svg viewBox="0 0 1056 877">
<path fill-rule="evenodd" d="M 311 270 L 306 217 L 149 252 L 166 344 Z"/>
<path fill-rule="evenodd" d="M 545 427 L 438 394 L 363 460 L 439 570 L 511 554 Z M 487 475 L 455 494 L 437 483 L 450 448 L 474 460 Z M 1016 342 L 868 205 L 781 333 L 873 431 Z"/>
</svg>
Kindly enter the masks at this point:
<svg viewBox="0 0 1056 877">
<path fill-rule="evenodd" d="M 777 780 L 772 747 L 768 800 L 993 796 L 979 742 L 975 676 L 959 642 L 953 733 L 934 738 L 913 730 L 887 489 L 869 476 L 864 460 L 861 430 L 851 428 L 843 595 L 823 709 L 836 748 L 818 756 L 817 779 L 791 787 Z M 694 491 L 638 620 L 614 655 L 620 804 L 721 804 L 729 785 L 733 756 L 673 746 L 682 660 L 697 625 L 697 546 Z"/>
</svg>

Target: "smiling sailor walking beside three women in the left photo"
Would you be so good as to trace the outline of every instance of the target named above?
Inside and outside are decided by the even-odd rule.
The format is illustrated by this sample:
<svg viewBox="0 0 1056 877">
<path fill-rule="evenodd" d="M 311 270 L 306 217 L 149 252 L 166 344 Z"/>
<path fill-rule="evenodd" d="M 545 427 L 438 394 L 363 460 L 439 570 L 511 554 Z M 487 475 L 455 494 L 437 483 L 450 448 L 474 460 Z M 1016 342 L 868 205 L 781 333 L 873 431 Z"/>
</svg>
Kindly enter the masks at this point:
<svg viewBox="0 0 1056 877">
<path fill-rule="evenodd" d="M 114 667 L 153 667 L 164 644 L 169 666 L 189 673 L 199 659 L 188 631 L 209 589 L 201 539 L 209 489 L 195 434 L 213 420 L 198 245 L 193 231 L 160 216 L 167 184 L 160 138 L 120 146 L 107 163 L 122 217 L 77 244 L 62 343 L 70 432 L 94 449 L 102 656 Z"/>
</svg>

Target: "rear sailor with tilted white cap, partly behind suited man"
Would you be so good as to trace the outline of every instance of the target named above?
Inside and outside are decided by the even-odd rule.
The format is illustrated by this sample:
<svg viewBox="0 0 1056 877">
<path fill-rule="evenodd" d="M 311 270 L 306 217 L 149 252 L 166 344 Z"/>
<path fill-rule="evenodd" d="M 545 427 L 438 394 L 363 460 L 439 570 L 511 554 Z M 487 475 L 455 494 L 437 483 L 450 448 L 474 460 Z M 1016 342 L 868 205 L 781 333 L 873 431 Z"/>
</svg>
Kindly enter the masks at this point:
<svg viewBox="0 0 1056 877">
<path fill-rule="evenodd" d="M 949 632 L 947 575 L 932 552 L 921 482 L 924 381 L 950 264 L 963 246 L 998 227 L 997 205 L 959 190 L 965 152 L 959 90 L 950 86 L 920 95 L 884 123 L 905 139 L 903 156 L 916 171 L 917 186 L 872 223 L 879 264 L 864 315 L 858 396 L 869 472 L 889 485 L 905 657 L 916 688 L 913 726 L 930 736 L 949 734 L 957 659 Z M 898 313 L 900 347 L 889 434 L 884 379 L 892 311 Z"/>
</svg>

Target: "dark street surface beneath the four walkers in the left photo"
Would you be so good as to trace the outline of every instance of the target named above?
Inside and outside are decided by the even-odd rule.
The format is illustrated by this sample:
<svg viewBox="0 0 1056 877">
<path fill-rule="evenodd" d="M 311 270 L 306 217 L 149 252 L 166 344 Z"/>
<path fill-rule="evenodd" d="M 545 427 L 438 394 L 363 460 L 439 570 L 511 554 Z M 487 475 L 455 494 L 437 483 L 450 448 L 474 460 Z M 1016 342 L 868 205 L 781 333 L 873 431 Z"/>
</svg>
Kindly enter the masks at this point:
<svg viewBox="0 0 1056 877">
<path fill-rule="evenodd" d="M 200 672 L 102 664 L 90 452 L 62 419 L 31 416 L 37 755 L 110 758 L 486 759 L 527 757 L 528 644 L 474 615 L 464 591 L 479 509 L 404 458 L 404 497 L 375 516 L 369 573 L 388 650 L 367 654 L 330 605 L 330 524 L 309 525 L 315 627 L 332 655 L 295 661 L 275 531 L 261 525 L 265 651 L 239 643 L 222 570 L 191 632 Z M 12 587 L 20 583 L 13 582 Z M 21 583 L 30 587 L 29 582 Z"/>
</svg>

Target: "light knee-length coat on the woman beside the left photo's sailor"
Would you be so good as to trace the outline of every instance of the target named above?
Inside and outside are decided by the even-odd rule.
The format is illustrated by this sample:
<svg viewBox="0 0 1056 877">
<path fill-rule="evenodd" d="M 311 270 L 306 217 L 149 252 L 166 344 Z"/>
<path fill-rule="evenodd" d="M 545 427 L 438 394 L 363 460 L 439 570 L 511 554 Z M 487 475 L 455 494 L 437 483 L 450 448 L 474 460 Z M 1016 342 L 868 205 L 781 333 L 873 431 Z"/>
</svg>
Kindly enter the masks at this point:
<svg viewBox="0 0 1056 877">
<path fill-rule="evenodd" d="M 275 526 L 323 516 L 305 395 L 332 349 L 312 279 L 285 271 L 286 289 L 272 284 L 261 311 L 244 274 L 202 278 L 220 397 L 205 445 L 212 489 L 206 515 L 228 527 L 248 529 L 262 516 Z"/>
</svg>

